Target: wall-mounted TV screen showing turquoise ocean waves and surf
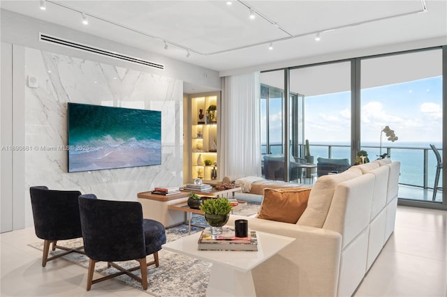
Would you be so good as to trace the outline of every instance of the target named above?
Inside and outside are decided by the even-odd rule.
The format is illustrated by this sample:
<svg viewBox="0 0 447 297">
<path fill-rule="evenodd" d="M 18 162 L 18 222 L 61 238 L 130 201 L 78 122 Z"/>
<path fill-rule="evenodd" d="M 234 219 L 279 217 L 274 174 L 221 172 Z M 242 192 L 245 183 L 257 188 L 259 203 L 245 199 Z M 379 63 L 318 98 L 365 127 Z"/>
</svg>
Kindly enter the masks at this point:
<svg viewBox="0 0 447 297">
<path fill-rule="evenodd" d="M 68 172 L 161 164 L 161 112 L 68 103 Z"/>
</svg>

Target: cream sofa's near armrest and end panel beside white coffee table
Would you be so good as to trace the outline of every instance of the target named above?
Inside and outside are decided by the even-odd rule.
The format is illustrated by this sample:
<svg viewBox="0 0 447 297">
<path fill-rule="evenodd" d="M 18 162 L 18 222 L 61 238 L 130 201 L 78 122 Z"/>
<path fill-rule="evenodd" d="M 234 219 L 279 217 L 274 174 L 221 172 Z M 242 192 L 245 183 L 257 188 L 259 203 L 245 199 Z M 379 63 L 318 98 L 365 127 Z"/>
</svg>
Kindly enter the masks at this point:
<svg viewBox="0 0 447 297">
<path fill-rule="evenodd" d="M 249 229 L 296 240 L 252 271 L 257 296 L 335 296 L 341 234 L 321 228 L 230 215 L 228 224 L 249 220 Z"/>
</svg>

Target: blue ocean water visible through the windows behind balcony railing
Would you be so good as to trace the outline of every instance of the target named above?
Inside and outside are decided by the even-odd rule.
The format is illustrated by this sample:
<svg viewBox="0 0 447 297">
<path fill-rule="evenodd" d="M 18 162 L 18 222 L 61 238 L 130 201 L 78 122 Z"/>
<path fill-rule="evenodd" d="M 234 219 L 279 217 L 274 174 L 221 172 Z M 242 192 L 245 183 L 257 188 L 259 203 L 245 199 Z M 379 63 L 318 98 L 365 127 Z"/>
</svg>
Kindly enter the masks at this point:
<svg viewBox="0 0 447 297">
<path fill-rule="evenodd" d="M 432 142 L 442 155 L 442 143 Z M 361 144 L 362 150 L 367 151 L 370 161 L 379 158 L 379 143 L 365 142 Z M 390 150 L 390 158 L 401 163 L 400 183 L 417 187 L 424 186 L 424 155 L 427 154 L 427 187 L 434 185 L 434 175 L 436 173 L 437 159 L 430 148 L 430 143 L 426 142 L 383 142 L 381 152 Z M 282 153 L 281 144 L 272 144 L 270 150 L 274 154 Z M 329 150 L 332 159 L 348 158 L 351 155 L 350 144 L 346 142 L 318 142 L 310 144 L 311 154 L 314 155 L 314 162 L 317 158 L 329 158 Z M 265 145 L 262 147 L 265 153 Z M 439 186 L 442 187 L 442 173 L 439 178 Z"/>
</svg>

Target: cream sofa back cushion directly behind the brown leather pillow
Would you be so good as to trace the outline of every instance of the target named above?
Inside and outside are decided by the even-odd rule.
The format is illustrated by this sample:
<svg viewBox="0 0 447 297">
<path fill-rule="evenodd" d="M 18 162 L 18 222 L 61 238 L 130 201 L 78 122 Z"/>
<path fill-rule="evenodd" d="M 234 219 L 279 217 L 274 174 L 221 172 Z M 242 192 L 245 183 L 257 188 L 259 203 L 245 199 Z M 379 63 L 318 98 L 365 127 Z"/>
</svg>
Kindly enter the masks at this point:
<svg viewBox="0 0 447 297">
<path fill-rule="evenodd" d="M 341 174 L 325 175 L 318 178 L 310 192 L 307 208 L 297 224 L 323 227 L 337 185 L 361 175 L 362 172 L 359 169 L 353 168 Z"/>
</svg>

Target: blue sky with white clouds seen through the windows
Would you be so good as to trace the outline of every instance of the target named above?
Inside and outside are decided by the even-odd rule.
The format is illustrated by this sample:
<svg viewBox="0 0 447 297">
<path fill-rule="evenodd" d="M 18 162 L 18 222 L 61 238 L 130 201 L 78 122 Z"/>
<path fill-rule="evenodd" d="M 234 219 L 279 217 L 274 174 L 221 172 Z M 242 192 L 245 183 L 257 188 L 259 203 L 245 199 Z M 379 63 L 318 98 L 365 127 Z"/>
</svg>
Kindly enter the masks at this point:
<svg viewBox="0 0 447 297">
<path fill-rule="evenodd" d="M 362 142 L 379 144 L 386 125 L 395 130 L 397 142 L 441 142 L 441 76 L 364 89 L 361 96 Z M 305 105 L 309 141 L 350 142 L 350 92 L 307 97 Z"/>
</svg>

